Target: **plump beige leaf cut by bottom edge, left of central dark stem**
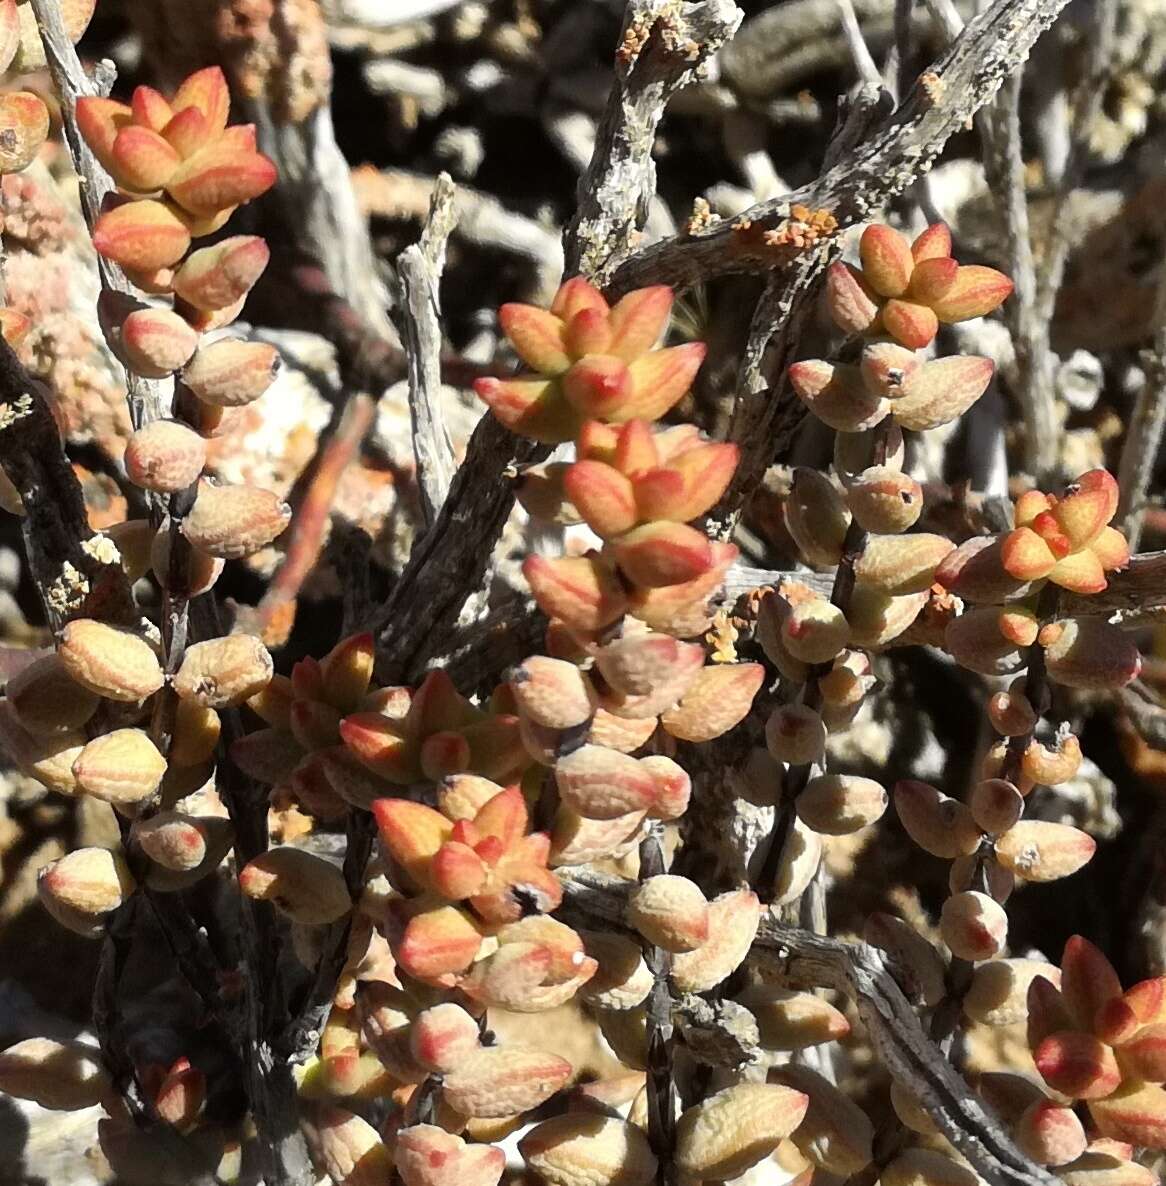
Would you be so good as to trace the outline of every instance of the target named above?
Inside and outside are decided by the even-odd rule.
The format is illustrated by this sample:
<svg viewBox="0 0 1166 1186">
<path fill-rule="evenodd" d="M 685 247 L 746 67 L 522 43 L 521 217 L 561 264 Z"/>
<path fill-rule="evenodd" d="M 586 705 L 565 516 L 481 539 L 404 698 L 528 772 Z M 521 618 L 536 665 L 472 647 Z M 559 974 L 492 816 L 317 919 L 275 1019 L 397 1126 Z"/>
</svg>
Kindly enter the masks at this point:
<svg viewBox="0 0 1166 1186">
<path fill-rule="evenodd" d="M 518 1152 L 549 1186 L 649 1186 L 656 1179 L 648 1137 L 609 1116 L 554 1116 L 530 1129 Z"/>
</svg>

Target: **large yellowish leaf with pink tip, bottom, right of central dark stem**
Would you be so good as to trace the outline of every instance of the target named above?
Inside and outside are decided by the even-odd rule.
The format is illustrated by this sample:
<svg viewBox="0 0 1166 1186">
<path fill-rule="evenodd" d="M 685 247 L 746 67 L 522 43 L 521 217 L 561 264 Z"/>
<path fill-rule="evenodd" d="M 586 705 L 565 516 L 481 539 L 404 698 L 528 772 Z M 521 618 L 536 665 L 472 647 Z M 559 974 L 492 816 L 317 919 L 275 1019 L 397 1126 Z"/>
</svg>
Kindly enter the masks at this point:
<svg viewBox="0 0 1166 1186">
<path fill-rule="evenodd" d="M 676 1126 L 676 1165 L 700 1180 L 737 1178 L 770 1156 L 802 1123 L 809 1101 L 771 1083 L 737 1083 L 687 1109 Z"/>
</svg>

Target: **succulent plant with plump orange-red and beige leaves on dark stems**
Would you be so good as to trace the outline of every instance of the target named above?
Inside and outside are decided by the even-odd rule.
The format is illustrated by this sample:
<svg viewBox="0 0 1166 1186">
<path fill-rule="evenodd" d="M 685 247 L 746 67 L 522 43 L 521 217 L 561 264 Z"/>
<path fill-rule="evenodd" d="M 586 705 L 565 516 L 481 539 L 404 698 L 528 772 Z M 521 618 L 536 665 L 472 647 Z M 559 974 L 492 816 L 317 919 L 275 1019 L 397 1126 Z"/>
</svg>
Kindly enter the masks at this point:
<svg viewBox="0 0 1166 1186">
<path fill-rule="evenodd" d="M 15 8 L 0 2 L 9 42 Z M 123 599 L 66 591 L 51 650 L 0 701 L 13 764 L 108 804 L 120 835 L 45 865 L 44 908 L 116 962 L 145 904 L 219 1058 L 203 1041 L 159 1060 L 147 1041 L 119 1045 L 106 1019 L 97 1047 L 33 1038 L 0 1052 L 0 1089 L 101 1105 L 102 1150 L 129 1181 L 178 1159 L 191 1181 L 255 1180 L 254 1161 L 270 1182 L 337 1186 L 497 1186 L 520 1169 L 549 1186 L 1050 1173 L 1149 1186 L 1146 1150 L 1166 1147 L 1166 978 L 1123 990 L 1081 937 L 1059 968 L 1008 946 L 1009 895 L 1073 875 L 1096 848 L 1030 814 L 1038 788 L 1083 761 L 1081 739 L 1052 725 L 1055 694 L 1111 694 L 1141 667 L 1132 636 L 1088 602 L 1129 563 L 1117 484 L 1095 468 L 1018 490 L 1007 529 L 952 537 L 907 465 L 904 434 L 954 423 L 994 376 L 988 358 L 937 357 L 939 327 L 992 314 L 1008 278 L 958 263 L 943 224 L 911 242 L 874 223 L 860 266 L 829 264 L 837 358 L 783 378 L 833 431 L 833 466 L 798 468 L 784 497 L 799 568 L 741 598 L 725 588 L 739 548 L 707 528 L 741 442 L 677 414 L 706 346 L 665 344 L 673 289 L 609 300 L 572 276 L 549 308 L 503 305 L 527 370 L 474 389 L 511 433 L 554 446 L 515 476 L 541 538 L 565 542 L 521 565 L 541 646 L 473 688 L 440 667 L 382 683 L 371 630 L 276 674 L 243 619 L 224 633 L 191 614 L 291 518 L 273 492 L 208 472 L 208 440 L 279 369 L 274 347 L 232 330 L 267 243 L 196 243 L 276 183 L 229 107 L 217 68 L 170 97 L 139 87 L 126 103 L 77 103 L 116 186 L 91 227 L 125 280 L 107 282 L 101 324 L 130 393 L 160 394 L 133 400 L 125 451 L 141 517 L 85 541 L 120 567 Z M 2 327 L 14 344 L 17 318 Z M 828 593 L 813 569 L 833 570 Z M 139 581 L 160 593 L 153 618 Z M 906 645 L 994 681 L 981 697 L 993 740 L 966 791 L 912 778 L 888 792 L 842 757 L 885 652 Z M 722 748 L 734 735 L 744 746 Z M 732 841 L 732 884 L 686 860 L 701 852 L 696 797 L 726 783 L 762 820 Z M 886 827 L 892 801 L 910 842 L 950 862 L 934 920 L 871 913 L 862 949 L 788 926 L 822 907 L 839 837 Z M 211 897 L 238 914 L 237 959 L 198 922 Z M 823 973 L 855 952 L 866 980 Z M 872 967 L 893 1025 L 872 1006 Z M 291 1001 L 263 999 L 275 983 Z M 821 993 L 841 984 L 856 1014 Z M 291 1020 L 273 1033 L 280 1007 Z M 584 1079 L 556 1021 L 499 1032 L 508 1015 L 565 1008 L 618 1072 Z M 936 1082 L 922 1072 L 892 1080 L 877 1128 L 829 1054 L 906 1046 L 942 1064 L 950 1090 L 966 1032 L 1007 1026 L 1026 1028 L 1031 1065 L 981 1072 L 974 1104 L 956 1101 L 980 1144 L 961 1141 L 960 1109 L 922 1091 Z M 901 1054 L 887 1063 L 901 1072 Z M 283 1142 L 306 1150 L 299 1171 L 276 1155 Z"/>
</svg>

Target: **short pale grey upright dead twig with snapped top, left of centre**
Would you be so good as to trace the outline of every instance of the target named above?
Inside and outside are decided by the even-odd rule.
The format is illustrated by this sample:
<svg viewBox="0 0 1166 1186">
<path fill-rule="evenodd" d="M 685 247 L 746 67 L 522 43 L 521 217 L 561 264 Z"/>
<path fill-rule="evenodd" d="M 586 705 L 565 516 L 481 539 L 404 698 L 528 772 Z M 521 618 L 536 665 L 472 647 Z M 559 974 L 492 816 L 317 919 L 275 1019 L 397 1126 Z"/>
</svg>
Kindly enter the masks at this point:
<svg viewBox="0 0 1166 1186">
<path fill-rule="evenodd" d="M 409 366 L 409 420 L 418 491 L 426 527 L 433 524 L 450 492 L 457 461 L 441 414 L 441 321 L 438 285 L 445 246 L 454 225 L 454 186 L 448 173 L 438 177 L 421 241 L 396 261 L 401 286 L 399 323 Z"/>
</svg>

